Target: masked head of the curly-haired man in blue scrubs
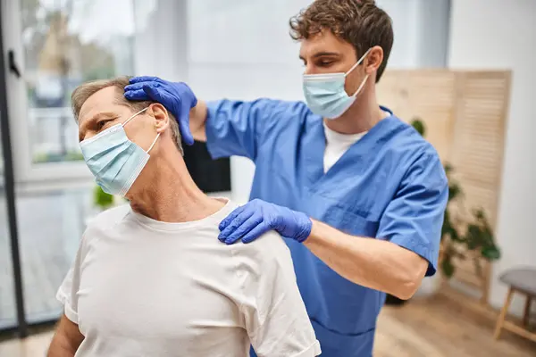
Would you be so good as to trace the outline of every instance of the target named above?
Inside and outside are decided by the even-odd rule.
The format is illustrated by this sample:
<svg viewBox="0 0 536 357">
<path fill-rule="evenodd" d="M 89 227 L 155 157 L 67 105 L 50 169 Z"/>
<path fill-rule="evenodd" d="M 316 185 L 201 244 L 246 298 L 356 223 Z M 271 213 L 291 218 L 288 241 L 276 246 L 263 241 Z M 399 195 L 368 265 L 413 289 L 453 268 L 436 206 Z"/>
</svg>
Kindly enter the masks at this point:
<svg viewBox="0 0 536 357">
<path fill-rule="evenodd" d="M 371 78 L 381 79 L 394 35 L 389 15 L 373 0 L 315 0 L 290 18 L 289 25 L 290 37 L 301 43 L 303 90 L 314 113 L 334 119 L 348 110 L 369 80 L 359 68 L 363 62 L 374 65 Z M 371 56 L 376 47 L 381 55 L 374 51 Z"/>
</svg>

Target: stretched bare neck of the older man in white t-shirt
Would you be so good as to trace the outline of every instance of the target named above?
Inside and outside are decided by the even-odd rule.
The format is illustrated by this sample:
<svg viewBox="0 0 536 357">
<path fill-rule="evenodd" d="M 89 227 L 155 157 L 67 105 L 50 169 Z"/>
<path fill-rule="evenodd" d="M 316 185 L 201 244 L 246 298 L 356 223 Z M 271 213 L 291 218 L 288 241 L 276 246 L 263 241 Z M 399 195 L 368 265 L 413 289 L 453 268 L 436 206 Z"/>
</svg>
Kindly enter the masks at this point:
<svg viewBox="0 0 536 357">
<path fill-rule="evenodd" d="M 188 222 L 222 209 L 224 203 L 197 187 L 177 150 L 158 149 L 127 195 L 132 210 L 153 220 Z"/>
</svg>

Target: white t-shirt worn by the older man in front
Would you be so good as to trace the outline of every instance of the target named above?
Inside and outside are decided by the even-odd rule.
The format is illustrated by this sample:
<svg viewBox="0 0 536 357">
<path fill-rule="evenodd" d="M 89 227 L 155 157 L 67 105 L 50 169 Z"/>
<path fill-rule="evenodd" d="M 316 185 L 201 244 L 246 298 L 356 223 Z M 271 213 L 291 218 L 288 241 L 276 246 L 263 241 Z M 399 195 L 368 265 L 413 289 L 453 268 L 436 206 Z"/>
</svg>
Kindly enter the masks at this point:
<svg viewBox="0 0 536 357">
<path fill-rule="evenodd" d="M 57 297 L 85 336 L 77 357 L 309 357 L 320 345 L 288 247 L 269 232 L 222 244 L 218 224 L 164 223 L 121 206 L 92 220 Z"/>
</svg>

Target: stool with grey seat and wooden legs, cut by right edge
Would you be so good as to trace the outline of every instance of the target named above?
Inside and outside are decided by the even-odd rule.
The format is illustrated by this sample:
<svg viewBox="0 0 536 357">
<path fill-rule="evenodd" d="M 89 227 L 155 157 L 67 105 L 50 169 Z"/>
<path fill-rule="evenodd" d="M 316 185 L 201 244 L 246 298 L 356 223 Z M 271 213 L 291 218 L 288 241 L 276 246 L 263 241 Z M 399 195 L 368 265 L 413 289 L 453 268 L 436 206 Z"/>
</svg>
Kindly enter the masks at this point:
<svg viewBox="0 0 536 357">
<path fill-rule="evenodd" d="M 531 315 L 531 302 L 532 299 L 536 299 L 536 269 L 534 268 L 521 268 L 515 270 L 507 270 L 500 276 L 500 281 L 509 286 L 507 300 L 503 305 L 500 315 L 497 320 L 497 326 L 495 327 L 495 339 L 500 336 L 502 328 L 506 328 L 510 332 L 514 332 L 519 336 L 529 338 L 536 342 L 536 333 L 529 330 L 529 320 Z M 523 327 L 516 325 L 513 322 L 505 320 L 507 317 L 508 307 L 512 303 L 512 297 L 514 293 L 526 295 L 524 313 L 523 313 Z"/>
</svg>

